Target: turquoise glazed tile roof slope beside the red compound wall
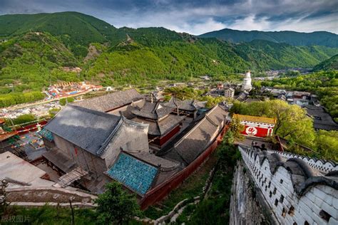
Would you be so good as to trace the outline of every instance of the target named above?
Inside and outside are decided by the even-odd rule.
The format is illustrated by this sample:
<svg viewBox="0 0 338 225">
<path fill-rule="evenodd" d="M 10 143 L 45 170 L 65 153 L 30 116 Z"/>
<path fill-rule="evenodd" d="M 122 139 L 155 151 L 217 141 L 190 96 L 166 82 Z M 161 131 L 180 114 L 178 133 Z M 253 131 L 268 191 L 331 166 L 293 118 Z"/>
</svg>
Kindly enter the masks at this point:
<svg viewBox="0 0 338 225">
<path fill-rule="evenodd" d="M 121 153 L 117 162 L 107 171 L 107 174 L 126 185 L 129 189 L 144 195 L 153 183 L 157 172 L 157 167 L 153 167 L 126 153 Z"/>
</svg>

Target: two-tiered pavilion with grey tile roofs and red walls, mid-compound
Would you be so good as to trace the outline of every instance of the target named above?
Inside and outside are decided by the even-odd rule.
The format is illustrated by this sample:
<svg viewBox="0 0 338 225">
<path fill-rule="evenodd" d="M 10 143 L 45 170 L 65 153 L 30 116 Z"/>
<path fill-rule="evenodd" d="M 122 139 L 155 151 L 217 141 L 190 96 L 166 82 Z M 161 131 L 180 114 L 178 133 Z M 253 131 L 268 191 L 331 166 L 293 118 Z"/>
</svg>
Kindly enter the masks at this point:
<svg viewBox="0 0 338 225">
<path fill-rule="evenodd" d="M 142 108 L 135 108 L 131 120 L 149 125 L 148 139 L 150 145 L 161 148 L 171 137 L 180 132 L 183 116 L 173 115 L 174 108 L 162 105 L 160 102 L 145 101 Z"/>
</svg>

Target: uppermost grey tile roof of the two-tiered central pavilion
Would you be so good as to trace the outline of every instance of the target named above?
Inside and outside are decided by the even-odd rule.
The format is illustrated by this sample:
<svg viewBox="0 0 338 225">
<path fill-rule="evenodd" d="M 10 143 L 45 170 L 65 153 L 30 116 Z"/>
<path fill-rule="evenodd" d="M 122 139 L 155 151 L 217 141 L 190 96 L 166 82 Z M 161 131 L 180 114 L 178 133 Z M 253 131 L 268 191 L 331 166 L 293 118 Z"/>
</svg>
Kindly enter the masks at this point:
<svg viewBox="0 0 338 225">
<path fill-rule="evenodd" d="M 146 101 L 142 108 L 132 110 L 134 115 L 138 115 L 140 117 L 145 117 L 151 120 L 159 120 L 162 117 L 170 114 L 173 111 L 171 107 L 165 107 L 161 105 L 159 102 L 151 103 Z"/>
</svg>

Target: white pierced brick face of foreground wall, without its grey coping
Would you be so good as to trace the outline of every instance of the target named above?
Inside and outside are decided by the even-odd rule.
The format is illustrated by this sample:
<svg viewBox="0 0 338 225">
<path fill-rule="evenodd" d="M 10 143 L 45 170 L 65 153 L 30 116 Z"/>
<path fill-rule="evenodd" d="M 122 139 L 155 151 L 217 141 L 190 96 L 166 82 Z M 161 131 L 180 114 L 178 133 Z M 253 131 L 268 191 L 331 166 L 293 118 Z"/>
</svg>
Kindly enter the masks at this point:
<svg viewBox="0 0 338 225">
<path fill-rule="evenodd" d="M 338 191 L 323 184 L 309 187 L 305 194 L 299 196 L 293 187 L 292 178 L 304 182 L 304 177 L 292 175 L 279 166 L 275 173 L 270 171 L 270 162 L 264 159 L 260 165 L 260 159 L 255 154 L 248 154 L 251 150 L 245 151 L 239 147 L 257 187 L 262 190 L 265 201 L 270 206 L 280 224 L 338 224 Z M 297 178 L 297 179 L 295 179 Z M 276 206 L 277 204 L 277 206 Z M 292 212 L 293 207 L 293 212 Z M 331 217 L 329 221 L 322 218 L 321 211 L 327 212 Z"/>
</svg>

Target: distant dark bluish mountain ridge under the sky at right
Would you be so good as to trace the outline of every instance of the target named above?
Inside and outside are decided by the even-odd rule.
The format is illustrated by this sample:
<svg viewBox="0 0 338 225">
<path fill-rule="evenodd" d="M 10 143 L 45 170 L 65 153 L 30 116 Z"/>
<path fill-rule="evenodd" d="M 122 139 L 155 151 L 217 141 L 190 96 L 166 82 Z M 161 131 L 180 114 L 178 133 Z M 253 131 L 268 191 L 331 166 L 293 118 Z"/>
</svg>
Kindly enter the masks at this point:
<svg viewBox="0 0 338 225">
<path fill-rule="evenodd" d="M 250 42 L 253 40 L 266 40 L 276 43 L 289 43 L 292 46 L 327 46 L 338 47 L 338 35 L 326 31 L 301 33 L 295 31 L 237 31 L 222 29 L 203 33 L 200 38 L 219 38 L 233 43 Z"/>
</svg>

